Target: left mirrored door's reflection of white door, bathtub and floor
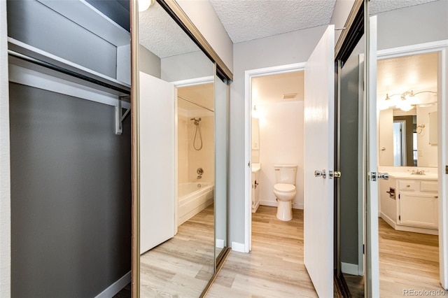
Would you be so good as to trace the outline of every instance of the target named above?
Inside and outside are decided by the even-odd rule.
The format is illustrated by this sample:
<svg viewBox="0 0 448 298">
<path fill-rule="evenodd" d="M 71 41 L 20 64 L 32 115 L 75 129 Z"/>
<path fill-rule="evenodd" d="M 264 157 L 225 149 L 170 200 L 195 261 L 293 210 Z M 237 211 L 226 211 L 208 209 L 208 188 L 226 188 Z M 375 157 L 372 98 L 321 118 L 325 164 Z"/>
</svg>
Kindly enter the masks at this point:
<svg viewBox="0 0 448 298">
<path fill-rule="evenodd" d="M 214 64 L 155 2 L 139 13 L 140 293 L 200 297 L 214 263 Z"/>
</svg>

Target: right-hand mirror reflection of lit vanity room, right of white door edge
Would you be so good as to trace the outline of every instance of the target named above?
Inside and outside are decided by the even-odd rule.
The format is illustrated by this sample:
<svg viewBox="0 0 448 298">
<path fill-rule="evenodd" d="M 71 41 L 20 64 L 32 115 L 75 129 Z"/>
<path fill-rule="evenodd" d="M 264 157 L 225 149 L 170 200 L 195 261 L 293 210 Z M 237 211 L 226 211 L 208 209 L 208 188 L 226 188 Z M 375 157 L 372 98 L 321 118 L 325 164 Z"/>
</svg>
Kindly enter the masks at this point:
<svg viewBox="0 0 448 298">
<path fill-rule="evenodd" d="M 438 225 L 444 222 L 439 221 L 443 213 L 438 206 L 443 206 L 447 194 L 439 192 L 443 181 L 437 179 L 436 173 L 440 173 L 437 155 L 441 156 L 440 152 L 446 152 L 447 148 L 441 148 L 441 143 L 430 143 L 435 125 L 430 127 L 429 115 L 440 109 L 445 100 L 442 90 L 447 81 L 442 80 L 440 73 L 447 67 L 442 64 L 446 59 L 442 50 L 447 48 L 448 1 L 371 2 L 372 8 L 374 3 L 381 4 L 371 10 L 378 19 L 379 171 L 386 166 L 383 169 L 390 174 L 389 180 L 379 181 L 378 296 L 402 297 L 407 295 L 406 289 L 417 288 L 443 296 L 447 292 L 440 283 L 446 283 L 446 276 L 442 276 L 447 270 L 443 268 L 446 264 L 439 260 L 444 259 L 440 253 L 446 251 L 446 239 Z M 442 115 L 442 111 L 437 113 Z M 403 149 L 397 150 L 401 158 L 395 164 L 401 160 L 403 165 L 418 168 L 391 169 L 393 145 L 400 143 L 393 141 L 393 125 L 402 123 L 396 121 L 405 117 L 409 120 L 402 131 L 412 126 L 412 137 L 401 133 L 405 141 Z M 395 139 L 399 139 L 396 133 Z M 405 150 L 411 147 L 412 153 Z M 426 173 L 416 174 L 417 170 L 422 172 L 421 167 L 426 168 L 423 169 Z M 421 264 L 425 264 L 425 269 L 422 270 Z"/>
</svg>

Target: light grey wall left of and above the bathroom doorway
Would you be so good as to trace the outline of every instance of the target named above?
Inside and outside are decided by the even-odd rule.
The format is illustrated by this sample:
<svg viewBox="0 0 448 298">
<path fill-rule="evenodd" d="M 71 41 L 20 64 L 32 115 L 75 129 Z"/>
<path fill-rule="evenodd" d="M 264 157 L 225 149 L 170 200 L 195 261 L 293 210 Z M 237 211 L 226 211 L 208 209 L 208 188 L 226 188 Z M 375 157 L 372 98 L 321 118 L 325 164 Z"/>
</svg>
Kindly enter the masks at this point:
<svg viewBox="0 0 448 298">
<path fill-rule="evenodd" d="M 326 26 L 236 43 L 230 85 L 229 242 L 244 243 L 244 71 L 306 62 Z M 248 99 L 247 99 L 248 100 Z M 248 137 L 248 136 L 247 136 Z M 262 155 L 262 151 L 260 151 Z"/>
</svg>

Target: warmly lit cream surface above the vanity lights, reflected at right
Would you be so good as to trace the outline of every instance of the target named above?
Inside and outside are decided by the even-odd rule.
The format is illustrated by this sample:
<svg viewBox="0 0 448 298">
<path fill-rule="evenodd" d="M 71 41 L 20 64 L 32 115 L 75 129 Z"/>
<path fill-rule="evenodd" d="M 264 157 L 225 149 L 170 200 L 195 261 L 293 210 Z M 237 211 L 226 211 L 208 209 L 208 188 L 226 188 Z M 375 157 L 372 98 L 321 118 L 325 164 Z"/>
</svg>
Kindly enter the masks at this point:
<svg viewBox="0 0 448 298">
<path fill-rule="evenodd" d="M 437 91 L 437 53 L 379 60 L 377 97 L 405 91 Z"/>
</svg>

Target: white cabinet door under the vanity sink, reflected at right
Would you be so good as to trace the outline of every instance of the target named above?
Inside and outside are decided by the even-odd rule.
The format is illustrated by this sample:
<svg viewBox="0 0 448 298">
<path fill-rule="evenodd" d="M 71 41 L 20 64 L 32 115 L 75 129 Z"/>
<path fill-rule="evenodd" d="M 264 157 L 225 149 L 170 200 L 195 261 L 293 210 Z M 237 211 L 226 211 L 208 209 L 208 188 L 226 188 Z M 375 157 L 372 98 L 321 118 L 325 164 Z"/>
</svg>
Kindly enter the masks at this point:
<svg viewBox="0 0 448 298">
<path fill-rule="evenodd" d="M 400 194 L 400 224 L 437 229 L 438 199 L 433 194 Z"/>
</svg>

